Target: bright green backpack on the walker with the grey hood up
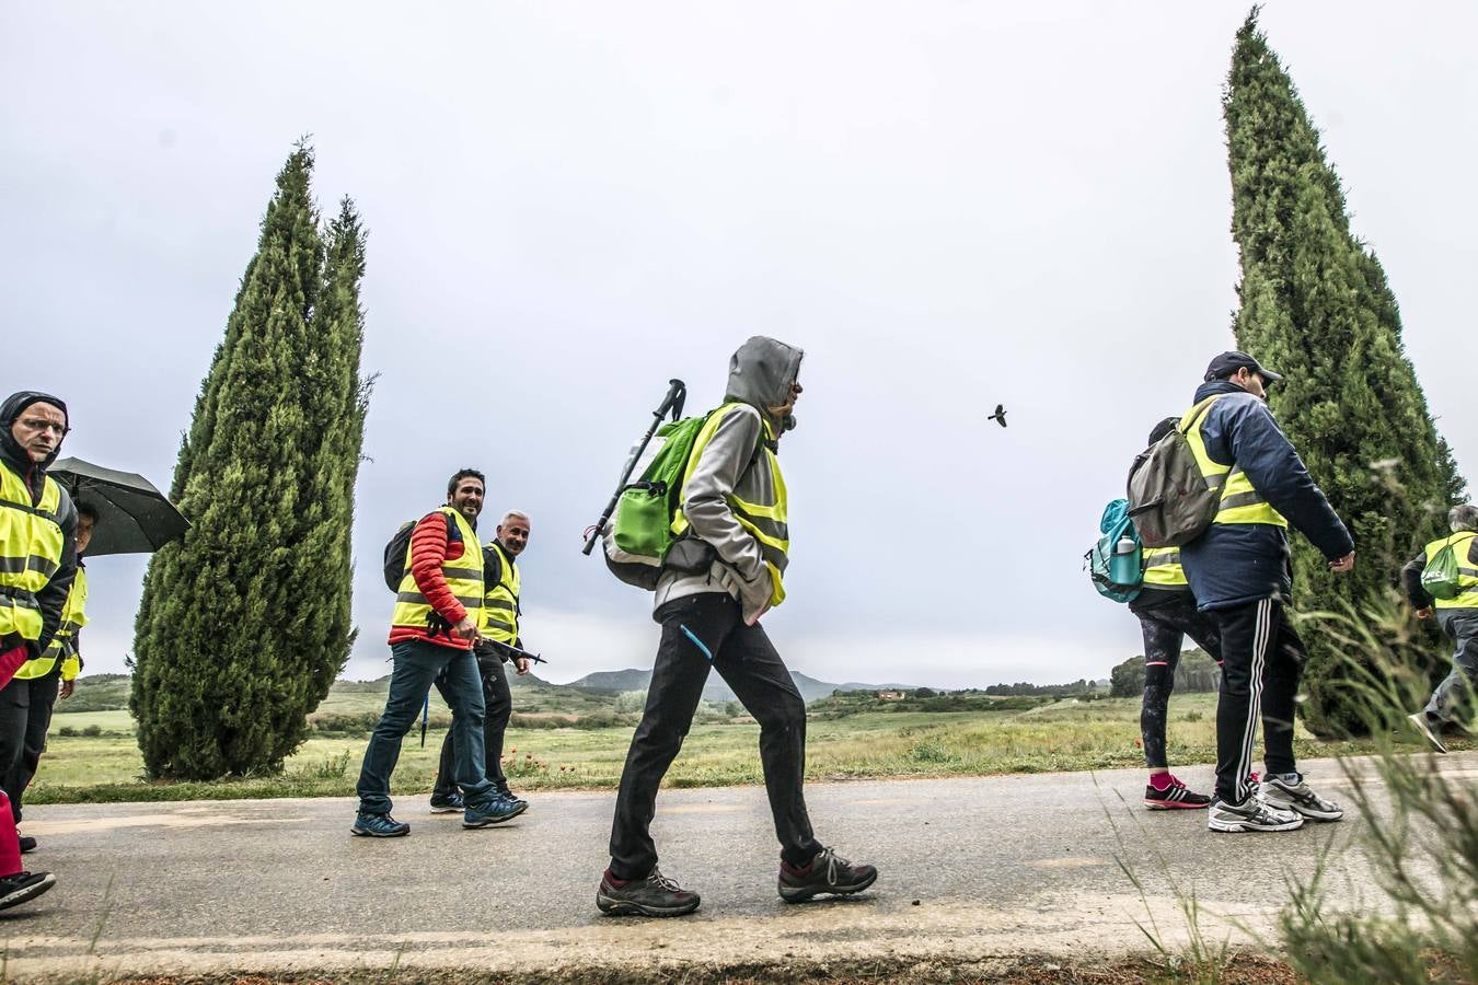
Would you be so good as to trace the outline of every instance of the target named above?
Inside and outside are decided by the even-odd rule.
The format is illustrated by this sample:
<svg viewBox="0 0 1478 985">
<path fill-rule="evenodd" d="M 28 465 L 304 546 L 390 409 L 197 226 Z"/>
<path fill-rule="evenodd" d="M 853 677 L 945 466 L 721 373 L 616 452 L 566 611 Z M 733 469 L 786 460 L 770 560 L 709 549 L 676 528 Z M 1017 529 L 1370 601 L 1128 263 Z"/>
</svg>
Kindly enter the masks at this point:
<svg viewBox="0 0 1478 985">
<path fill-rule="evenodd" d="M 711 413 L 711 412 L 709 412 Z M 652 591 L 662 561 L 677 539 L 672 514 L 683 490 L 683 473 L 708 413 L 664 424 L 637 462 L 640 478 L 621 490 L 616 511 L 602 532 L 606 567 L 627 585 Z"/>
</svg>

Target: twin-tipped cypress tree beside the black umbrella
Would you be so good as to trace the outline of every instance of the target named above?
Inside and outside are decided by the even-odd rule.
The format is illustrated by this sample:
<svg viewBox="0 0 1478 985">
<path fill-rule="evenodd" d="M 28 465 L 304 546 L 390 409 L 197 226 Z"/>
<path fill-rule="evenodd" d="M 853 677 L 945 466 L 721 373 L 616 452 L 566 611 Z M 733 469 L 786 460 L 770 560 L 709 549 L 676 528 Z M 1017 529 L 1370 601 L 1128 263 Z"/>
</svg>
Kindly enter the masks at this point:
<svg viewBox="0 0 1478 985">
<path fill-rule="evenodd" d="M 276 179 L 180 446 L 192 527 L 160 551 L 134 626 L 130 709 L 149 775 L 278 771 L 349 657 L 364 232 L 321 233 L 299 145 Z"/>
</svg>

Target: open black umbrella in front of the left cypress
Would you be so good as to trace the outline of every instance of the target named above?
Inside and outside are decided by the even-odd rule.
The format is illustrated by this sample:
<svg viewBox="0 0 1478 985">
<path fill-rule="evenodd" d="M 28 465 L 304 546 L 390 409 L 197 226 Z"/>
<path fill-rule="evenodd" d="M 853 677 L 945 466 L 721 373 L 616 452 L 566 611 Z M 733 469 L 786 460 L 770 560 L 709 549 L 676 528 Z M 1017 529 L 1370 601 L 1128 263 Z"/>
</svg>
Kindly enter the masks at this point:
<svg viewBox="0 0 1478 985">
<path fill-rule="evenodd" d="M 185 536 L 186 520 L 143 476 L 118 473 L 80 458 L 64 458 L 47 474 L 67 486 L 77 502 L 98 511 L 98 530 L 87 557 L 151 554 Z"/>
</svg>

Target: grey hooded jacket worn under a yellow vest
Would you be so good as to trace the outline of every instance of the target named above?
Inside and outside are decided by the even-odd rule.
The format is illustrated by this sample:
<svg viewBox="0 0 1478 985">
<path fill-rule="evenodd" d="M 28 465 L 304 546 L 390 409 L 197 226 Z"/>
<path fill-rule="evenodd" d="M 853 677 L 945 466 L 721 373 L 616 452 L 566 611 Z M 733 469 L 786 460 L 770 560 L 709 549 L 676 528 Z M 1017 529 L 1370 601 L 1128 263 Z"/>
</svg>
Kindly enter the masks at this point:
<svg viewBox="0 0 1478 985">
<path fill-rule="evenodd" d="M 684 595 L 727 592 L 739 600 L 745 619 L 752 619 L 769 604 L 770 570 L 764 566 L 760 542 L 735 518 L 729 495 L 746 502 L 773 501 L 770 461 L 755 455 L 755 449 L 766 422 L 774 434 L 772 450 L 776 452 L 780 434 L 795 427 L 794 416 L 776 416 L 770 408 L 789 402 L 804 354 L 794 346 L 755 335 L 729 360 L 724 403 L 745 406 L 718 424 L 699 453 L 681 507 L 689 532 L 712 549 L 714 560 L 698 573 L 664 570 L 653 607 Z"/>
</svg>

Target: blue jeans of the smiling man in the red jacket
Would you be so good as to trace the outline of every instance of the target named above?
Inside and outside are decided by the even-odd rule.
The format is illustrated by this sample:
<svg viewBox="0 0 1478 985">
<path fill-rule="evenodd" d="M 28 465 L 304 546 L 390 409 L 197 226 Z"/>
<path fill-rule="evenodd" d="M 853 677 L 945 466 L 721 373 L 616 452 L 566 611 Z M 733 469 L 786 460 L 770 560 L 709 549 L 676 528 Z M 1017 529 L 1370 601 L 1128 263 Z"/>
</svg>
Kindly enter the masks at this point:
<svg viewBox="0 0 1478 985">
<path fill-rule="evenodd" d="M 424 639 L 392 644 L 390 653 L 395 659 L 390 697 L 370 735 L 365 763 L 359 769 L 359 809 L 367 814 L 390 812 L 390 774 L 401 759 L 401 740 L 421 713 L 421 703 L 433 682 L 452 709 L 457 786 L 469 805 L 485 800 L 492 793 L 492 781 L 483 769 L 482 721 L 486 709 L 477 659 L 471 650 L 452 650 Z"/>
</svg>

